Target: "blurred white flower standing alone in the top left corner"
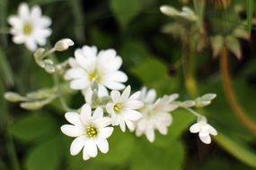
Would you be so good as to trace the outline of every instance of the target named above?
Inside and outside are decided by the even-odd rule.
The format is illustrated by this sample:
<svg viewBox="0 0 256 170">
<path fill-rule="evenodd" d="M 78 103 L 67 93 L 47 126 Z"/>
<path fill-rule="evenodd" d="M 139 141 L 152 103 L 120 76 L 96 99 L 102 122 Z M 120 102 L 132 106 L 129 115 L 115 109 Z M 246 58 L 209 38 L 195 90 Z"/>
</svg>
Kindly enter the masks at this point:
<svg viewBox="0 0 256 170">
<path fill-rule="evenodd" d="M 37 49 L 37 44 L 44 46 L 46 38 L 51 34 L 48 28 L 51 20 L 47 16 L 42 16 L 39 5 L 32 6 L 30 11 L 28 4 L 20 4 L 18 15 L 11 15 L 8 22 L 12 25 L 13 42 L 24 43 L 31 51 Z"/>
</svg>

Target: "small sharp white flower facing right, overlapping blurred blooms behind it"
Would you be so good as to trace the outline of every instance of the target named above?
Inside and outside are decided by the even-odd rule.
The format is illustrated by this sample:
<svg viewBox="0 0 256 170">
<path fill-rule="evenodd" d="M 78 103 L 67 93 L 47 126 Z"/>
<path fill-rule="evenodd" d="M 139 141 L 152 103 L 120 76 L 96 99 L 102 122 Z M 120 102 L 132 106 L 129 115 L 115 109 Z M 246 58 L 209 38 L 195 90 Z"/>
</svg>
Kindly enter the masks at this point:
<svg viewBox="0 0 256 170">
<path fill-rule="evenodd" d="M 143 102 L 137 100 L 139 91 L 130 95 L 130 86 L 124 89 L 120 94 L 117 90 L 112 90 L 110 93 L 112 102 L 107 104 L 107 112 L 111 116 L 112 125 L 119 125 L 122 132 L 126 131 L 126 125 L 130 131 L 134 131 L 135 122 L 141 118 L 141 113 L 136 109 L 141 108 Z"/>
</svg>

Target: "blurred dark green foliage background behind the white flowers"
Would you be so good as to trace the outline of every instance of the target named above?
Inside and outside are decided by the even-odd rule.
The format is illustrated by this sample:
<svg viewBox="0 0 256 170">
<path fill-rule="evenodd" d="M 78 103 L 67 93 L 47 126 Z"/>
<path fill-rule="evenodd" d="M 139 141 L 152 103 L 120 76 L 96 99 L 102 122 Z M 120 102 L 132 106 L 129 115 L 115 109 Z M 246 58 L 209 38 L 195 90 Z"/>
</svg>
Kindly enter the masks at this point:
<svg viewBox="0 0 256 170">
<path fill-rule="evenodd" d="M 51 76 L 35 64 L 31 52 L 22 45 L 13 44 L 11 36 L 4 33 L 9 27 L 7 17 L 17 13 L 21 2 L 0 0 L 0 170 L 256 168 L 256 133 L 234 114 L 230 99 L 226 99 L 219 58 L 213 58 L 210 46 L 199 52 L 188 50 L 181 39 L 162 31 L 166 23 L 175 20 L 160 13 L 160 5 L 170 4 L 181 9 L 183 4 L 187 4 L 194 8 L 195 1 L 26 1 L 30 5 L 40 4 L 43 13 L 53 21 L 48 46 L 60 38 L 75 41 L 75 47 L 56 54 L 59 61 L 73 56 L 75 48 L 84 45 L 94 45 L 99 49 L 114 48 L 123 58 L 122 70 L 128 73 L 127 84 L 131 84 L 133 89 L 145 85 L 156 89 L 159 97 L 175 92 L 184 100 L 205 93 L 217 94 L 212 105 L 199 110 L 219 132 L 211 145 L 203 144 L 198 135 L 190 134 L 189 127 L 196 121 L 195 117 L 178 109 L 172 113 L 173 123 L 168 135 L 162 136 L 156 132 L 156 140 L 150 143 L 146 137 L 137 138 L 133 133 L 122 133 L 116 128 L 109 140 L 109 153 L 100 154 L 89 161 L 84 161 L 81 154 L 70 156 L 69 146 L 73 139 L 60 132 L 59 127 L 66 120 L 65 111 L 58 100 L 39 111 L 23 110 L 18 104 L 4 100 L 3 94 L 8 90 L 24 95 L 54 86 Z M 246 20 L 250 14 L 247 11 L 248 3 L 252 2 L 226 2 L 230 3 L 228 7 L 218 8 L 214 4 L 225 3 L 225 0 L 207 1 L 209 4 L 206 5 L 207 13 L 203 21 L 208 37 L 216 31 L 221 35 L 228 34 L 230 29 L 241 25 L 247 29 L 234 16 L 234 6 L 242 4 L 245 7 L 239 17 Z M 253 11 L 254 5 L 251 5 L 249 7 Z M 184 29 L 187 30 L 186 27 Z M 191 33 L 189 29 L 187 31 Z M 243 58 L 238 60 L 233 54 L 228 54 L 233 92 L 254 126 L 255 40 L 252 25 L 250 42 L 239 39 Z M 182 57 L 191 54 L 193 62 L 190 62 L 190 57 Z M 189 72 L 186 71 L 188 67 Z M 78 91 L 64 98 L 72 108 L 84 104 L 84 98 Z"/>
</svg>

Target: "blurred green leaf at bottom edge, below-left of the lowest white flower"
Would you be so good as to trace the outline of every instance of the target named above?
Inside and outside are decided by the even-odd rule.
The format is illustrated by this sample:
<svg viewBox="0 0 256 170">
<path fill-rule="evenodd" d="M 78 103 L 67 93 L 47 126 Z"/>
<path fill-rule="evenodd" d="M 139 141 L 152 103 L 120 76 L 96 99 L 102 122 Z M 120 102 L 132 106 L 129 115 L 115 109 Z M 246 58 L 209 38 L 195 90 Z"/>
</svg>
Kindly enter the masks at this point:
<svg viewBox="0 0 256 170">
<path fill-rule="evenodd" d="M 56 170 L 62 157 L 61 138 L 48 140 L 32 149 L 25 160 L 27 170 Z"/>
</svg>

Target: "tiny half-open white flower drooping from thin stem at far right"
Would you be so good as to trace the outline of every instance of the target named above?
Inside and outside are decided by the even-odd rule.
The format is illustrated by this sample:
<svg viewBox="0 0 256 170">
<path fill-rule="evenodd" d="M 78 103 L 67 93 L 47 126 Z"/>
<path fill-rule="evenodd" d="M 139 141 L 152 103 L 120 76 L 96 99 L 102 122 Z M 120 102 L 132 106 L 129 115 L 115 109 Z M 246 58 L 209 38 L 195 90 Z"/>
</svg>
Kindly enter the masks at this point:
<svg viewBox="0 0 256 170">
<path fill-rule="evenodd" d="M 206 144 L 211 142 L 210 134 L 217 135 L 216 129 L 207 123 L 205 117 L 199 118 L 198 123 L 191 125 L 190 132 L 199 132 L 199 139 Z"/>
</svg>

